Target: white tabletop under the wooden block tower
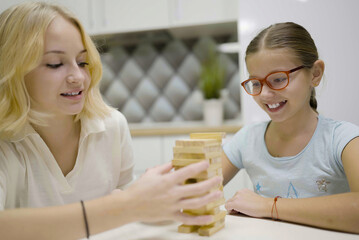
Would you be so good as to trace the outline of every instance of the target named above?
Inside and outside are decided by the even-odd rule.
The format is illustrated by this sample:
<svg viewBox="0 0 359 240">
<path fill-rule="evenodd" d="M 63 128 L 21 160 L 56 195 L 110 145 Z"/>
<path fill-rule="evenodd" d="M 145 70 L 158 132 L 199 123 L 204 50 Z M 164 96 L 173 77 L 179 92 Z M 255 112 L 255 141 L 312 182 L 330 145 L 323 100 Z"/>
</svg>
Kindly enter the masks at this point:
<svg viewBox="0 0 359 240">
<path fill-rule="evenodd" d="M 131 223 L 91 236 L 92 240 L 359 240 L 359 235 L 323 230 L 298 224 L 257 219 L 242 215 L 227 215 L 225 227 L 211 237 L 197 233 L 178 233 L 180 223 Z"/>
</svg>

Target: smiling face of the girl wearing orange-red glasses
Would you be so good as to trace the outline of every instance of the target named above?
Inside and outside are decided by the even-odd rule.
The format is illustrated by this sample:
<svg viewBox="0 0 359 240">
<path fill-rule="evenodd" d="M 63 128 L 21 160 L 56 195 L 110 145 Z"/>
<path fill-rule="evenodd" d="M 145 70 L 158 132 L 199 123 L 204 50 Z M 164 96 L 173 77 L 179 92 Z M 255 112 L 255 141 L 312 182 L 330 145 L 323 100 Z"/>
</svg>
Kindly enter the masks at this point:
<svg viewBox="0 0 359 240">
<path fill-rule="evenodd" d="M 272 72 L 288 71 L 300 65 L 292 52 L 285 48 L 262 49 L 247 57 L 251 78 L 263 79 Z M 271 89 L 264 83 L 261 93 L 253 98 L 274 122 L 282 122 L 310 111 L 311 85 L 308 72 L 307 69 L 300 69 L 290 73 L 288 86 L 281 90 Z"/>
</svg>

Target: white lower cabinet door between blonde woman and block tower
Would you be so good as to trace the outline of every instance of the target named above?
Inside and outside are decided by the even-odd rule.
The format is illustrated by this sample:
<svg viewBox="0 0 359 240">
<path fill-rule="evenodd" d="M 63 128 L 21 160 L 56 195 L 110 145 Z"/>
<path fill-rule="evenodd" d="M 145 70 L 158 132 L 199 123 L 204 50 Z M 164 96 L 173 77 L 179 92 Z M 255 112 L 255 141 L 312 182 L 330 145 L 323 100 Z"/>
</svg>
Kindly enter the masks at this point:
<svg viewBox="0 0 359 240">
<path fill-rule="evenodd" d="M 136 176 L 162 163 L 161 141 L 159 136 L 132 138 Z"/>
</svg>

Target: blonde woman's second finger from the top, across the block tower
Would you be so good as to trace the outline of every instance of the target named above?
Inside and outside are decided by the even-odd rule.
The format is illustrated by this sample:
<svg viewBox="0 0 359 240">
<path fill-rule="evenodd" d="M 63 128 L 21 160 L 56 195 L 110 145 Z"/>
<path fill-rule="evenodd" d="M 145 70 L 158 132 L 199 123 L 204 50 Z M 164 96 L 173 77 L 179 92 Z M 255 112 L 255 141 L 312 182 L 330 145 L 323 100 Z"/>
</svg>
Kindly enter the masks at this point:
<svg viewBox="0 0 359 240">
<path fill-rule="evenodd" d="M 182 185 L 178 187 L 177 194 L 180 198 L 198 196 L 218 187 L 221 182 L 222 178 L 217 176 L 206 181 Z"/>
</svg>

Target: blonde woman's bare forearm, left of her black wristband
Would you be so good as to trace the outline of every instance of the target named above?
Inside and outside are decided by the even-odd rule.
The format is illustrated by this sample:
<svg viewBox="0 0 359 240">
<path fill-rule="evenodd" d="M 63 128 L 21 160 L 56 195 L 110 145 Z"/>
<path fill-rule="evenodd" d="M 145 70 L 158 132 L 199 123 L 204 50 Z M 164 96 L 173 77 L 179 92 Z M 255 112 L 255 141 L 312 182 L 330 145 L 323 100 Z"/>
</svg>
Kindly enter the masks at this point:
<svg viewBox="0 0 359 240">
<path fill-rule="evenodd" d="M 86 236 L 80 203 L 0 212 L 2 239 L 79 239 Z"/>
</svg>

